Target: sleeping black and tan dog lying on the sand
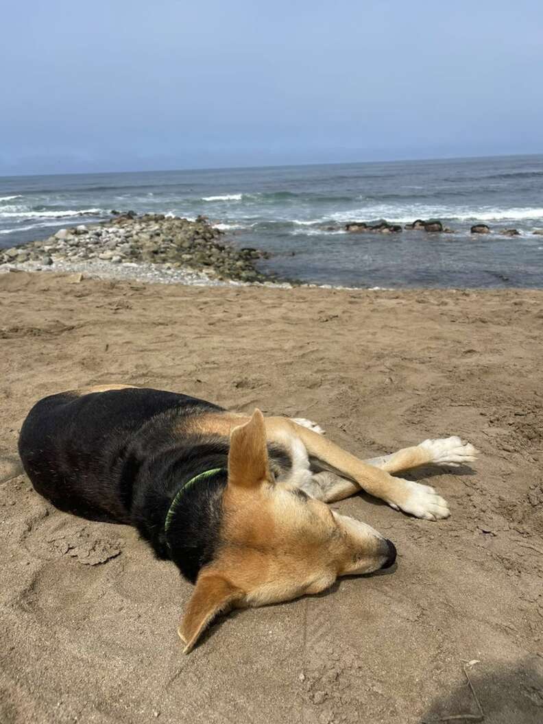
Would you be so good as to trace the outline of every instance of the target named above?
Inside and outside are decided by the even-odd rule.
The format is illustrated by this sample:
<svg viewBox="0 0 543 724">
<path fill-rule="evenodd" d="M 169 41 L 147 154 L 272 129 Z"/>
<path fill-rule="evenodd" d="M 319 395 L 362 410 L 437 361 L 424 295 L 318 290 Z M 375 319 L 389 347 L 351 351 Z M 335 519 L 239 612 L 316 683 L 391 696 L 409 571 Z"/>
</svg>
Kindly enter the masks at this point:
<svg viewBox="0 0 543 724">
<path fill-rule="evenodd" d="M 19 452 L 56 508 L 135 526 L 195 584 L 179 628 L 189 652 L 220 612 L 316 594 L 337 576 L 390 567 L 390 540 L 326 504 L 364 489 L 417 518 L 447 518 L 433 488 L 391 473 L 458 466 L 477 451 L 449 437 L 363 462 L 303 419 L 105 385 L 36 403 Z"/>
</svg>

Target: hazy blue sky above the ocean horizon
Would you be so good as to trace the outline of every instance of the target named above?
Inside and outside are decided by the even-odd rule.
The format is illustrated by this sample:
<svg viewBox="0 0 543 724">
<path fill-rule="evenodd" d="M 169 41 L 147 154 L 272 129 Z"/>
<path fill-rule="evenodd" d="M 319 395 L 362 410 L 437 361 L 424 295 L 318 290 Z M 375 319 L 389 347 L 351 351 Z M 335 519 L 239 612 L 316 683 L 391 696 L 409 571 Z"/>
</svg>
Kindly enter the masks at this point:
<svg viewBox="0 0 543 724">
<path fill-rule="evenodd" d="M 543 151 L 542 0 L 18 0 L 0 174 Z"/>
</svg>

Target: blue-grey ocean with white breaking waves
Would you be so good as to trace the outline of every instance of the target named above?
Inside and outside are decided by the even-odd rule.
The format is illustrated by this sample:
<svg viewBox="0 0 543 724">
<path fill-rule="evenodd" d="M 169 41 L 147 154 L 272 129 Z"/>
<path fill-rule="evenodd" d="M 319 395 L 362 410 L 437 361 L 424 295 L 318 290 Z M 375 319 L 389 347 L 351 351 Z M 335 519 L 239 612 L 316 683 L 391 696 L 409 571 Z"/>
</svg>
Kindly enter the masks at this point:
<svg viewBox="0 0 543 724">
<path fill-rule="evenodd" d="M 111 210 L 204 214 L 261 268 L 348 287 L 543 287 L 543 156 L 0 177 L 0 246 Z M 454 234 L 345 232 L 441 219 Z M 471 235 L 484 222 L 491 235 Z M 497 230 L 515 228 L 504 237 Z"/>
</svg>

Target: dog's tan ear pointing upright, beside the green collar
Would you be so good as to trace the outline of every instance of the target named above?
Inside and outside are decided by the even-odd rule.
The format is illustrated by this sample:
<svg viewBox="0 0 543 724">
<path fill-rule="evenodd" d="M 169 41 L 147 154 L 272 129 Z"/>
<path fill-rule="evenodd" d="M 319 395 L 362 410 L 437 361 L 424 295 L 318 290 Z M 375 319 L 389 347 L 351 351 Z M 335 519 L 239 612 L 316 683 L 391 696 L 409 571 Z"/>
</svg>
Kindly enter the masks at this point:
<svg viewBox="0 0 543 724">
<path fill-rule="evenodd" d="M 266 426 L 264 415 L 257 409 L 250 421 L 230 433 L 228 482 L 251 488 L 264 479 L 269 479 Z"/>
</svg>

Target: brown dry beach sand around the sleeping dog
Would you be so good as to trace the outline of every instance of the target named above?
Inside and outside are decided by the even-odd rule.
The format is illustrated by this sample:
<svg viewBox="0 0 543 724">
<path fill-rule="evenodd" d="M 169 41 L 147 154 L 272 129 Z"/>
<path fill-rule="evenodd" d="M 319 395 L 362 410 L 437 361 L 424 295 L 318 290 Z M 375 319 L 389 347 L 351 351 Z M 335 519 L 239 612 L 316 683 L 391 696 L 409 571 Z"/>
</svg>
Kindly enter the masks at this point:
<svg viewBox="0 0 543 724">
<path fill-rule="evenodd" d="M 543 721 L 543 292 L 194 288 L 0 277 L 1 453 L 30 405 L 132 382 L 307 416 L 367 457 L 460 434 L 427 468 L 452 517 L 337 504 L 396 544 L 390 574 L 220 620 L 184 656 L 191 586 L 125 526 L 0 487 L 0 721 Z M 9 464 L 6 471 L 9 473 Z"/>
</svg>

